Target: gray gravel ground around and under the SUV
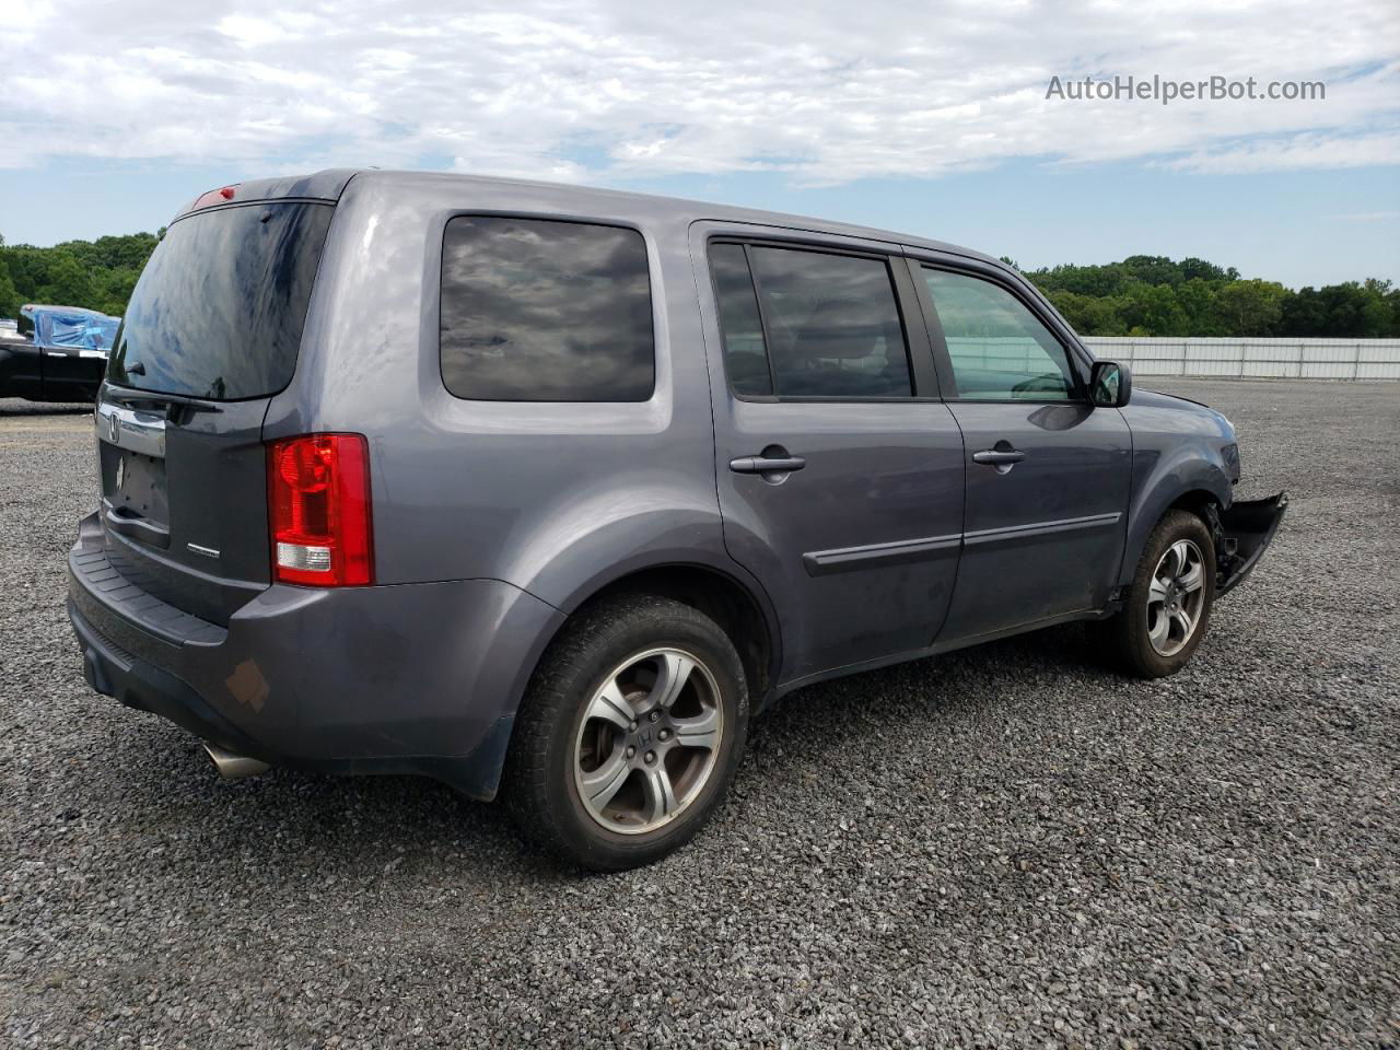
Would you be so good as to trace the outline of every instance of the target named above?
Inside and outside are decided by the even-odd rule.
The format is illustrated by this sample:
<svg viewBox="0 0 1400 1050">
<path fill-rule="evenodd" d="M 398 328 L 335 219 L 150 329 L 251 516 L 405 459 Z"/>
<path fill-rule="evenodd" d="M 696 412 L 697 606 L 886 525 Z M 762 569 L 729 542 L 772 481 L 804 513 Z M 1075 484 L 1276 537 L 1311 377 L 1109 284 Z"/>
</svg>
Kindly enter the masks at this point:
<svg viewBox="0 0 1400 1050">
<path fill-rule="evenodd" d="M 83 683 L 91 421 L 0 402 L 10 1046 L 1396 1046 L 1400 384 L 1145 384 L 1292 494 L 1176 678 L 1064 627 L 806 689 L 645 871 L 412 778 L 221 783 Z"/>
</svg>

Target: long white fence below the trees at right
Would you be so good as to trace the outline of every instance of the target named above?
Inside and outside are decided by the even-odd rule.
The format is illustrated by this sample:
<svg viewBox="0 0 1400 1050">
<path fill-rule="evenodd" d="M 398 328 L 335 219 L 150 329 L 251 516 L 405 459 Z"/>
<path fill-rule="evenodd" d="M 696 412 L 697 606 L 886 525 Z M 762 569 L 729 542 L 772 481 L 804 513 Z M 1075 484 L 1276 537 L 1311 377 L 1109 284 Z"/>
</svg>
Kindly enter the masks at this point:
<svg viewBox="0 0 1400 1050">
<path fill-rule="evenodd" d="M 1085 336 L 1134 375 L 1400 379 L 1400 339 L 1135 339 Z"/>
</svg>

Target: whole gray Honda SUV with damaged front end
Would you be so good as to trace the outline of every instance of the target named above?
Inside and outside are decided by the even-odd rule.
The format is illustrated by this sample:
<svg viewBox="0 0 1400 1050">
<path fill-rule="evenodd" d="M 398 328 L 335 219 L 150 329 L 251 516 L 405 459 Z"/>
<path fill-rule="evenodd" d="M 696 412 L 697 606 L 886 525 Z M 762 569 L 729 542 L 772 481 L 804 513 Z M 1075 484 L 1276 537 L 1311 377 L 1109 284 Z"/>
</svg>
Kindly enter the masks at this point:
<svg viewBox="0 0 1400 1050">
<path fill-rule="evenodd" d="M 501 794 L 599 869 L 690 839 L 801 686 L 1068 620 L 1177 671 L 1285 505 L 995 259 L 459 175 L 195 200 L 95 420 L 95 690 L 230 776 Z"/>
</svg>

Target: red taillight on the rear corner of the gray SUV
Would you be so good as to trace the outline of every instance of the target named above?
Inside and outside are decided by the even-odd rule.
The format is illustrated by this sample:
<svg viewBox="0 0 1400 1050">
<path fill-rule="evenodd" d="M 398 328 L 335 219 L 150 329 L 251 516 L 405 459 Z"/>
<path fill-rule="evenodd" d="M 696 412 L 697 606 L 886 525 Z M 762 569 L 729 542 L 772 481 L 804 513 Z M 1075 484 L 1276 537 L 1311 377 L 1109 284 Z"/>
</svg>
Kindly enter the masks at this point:
<svg viewBox="0 0 1400 1050">
<path fill-rule="evenodd" d="M 308 434 L 269 445 L 267 514 L 279 582 L 374 582 L 370 452 L 363 435 Z"/>
</svg>

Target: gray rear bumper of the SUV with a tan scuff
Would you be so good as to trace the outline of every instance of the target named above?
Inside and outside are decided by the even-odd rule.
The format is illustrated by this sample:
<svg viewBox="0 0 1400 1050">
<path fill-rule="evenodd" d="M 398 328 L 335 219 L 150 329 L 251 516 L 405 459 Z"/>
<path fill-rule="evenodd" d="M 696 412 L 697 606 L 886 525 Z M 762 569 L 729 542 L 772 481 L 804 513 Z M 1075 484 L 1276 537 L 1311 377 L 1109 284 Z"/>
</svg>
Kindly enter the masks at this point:
<svg viewBox="0 0 1400 1050">
<path fill-rule="evenodd" d="M 496 580 L 274 585 L 199 620 L 69 554 L 69 616 L 99 693 L 272 764 L 421 773 L 491 798 L 525 682 L 563 613 Z"/>
</svg>

